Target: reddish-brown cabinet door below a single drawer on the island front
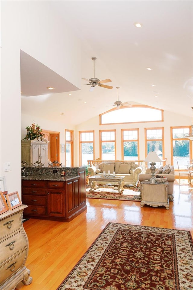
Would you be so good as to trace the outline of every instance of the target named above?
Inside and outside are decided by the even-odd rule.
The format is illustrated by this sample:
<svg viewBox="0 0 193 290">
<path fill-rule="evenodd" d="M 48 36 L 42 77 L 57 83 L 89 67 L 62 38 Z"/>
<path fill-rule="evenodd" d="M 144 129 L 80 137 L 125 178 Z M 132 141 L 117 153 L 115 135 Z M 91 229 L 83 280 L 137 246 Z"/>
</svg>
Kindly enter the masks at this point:
<svg viewBox="0 0 193 290">
<path fill-rule="evenodd" d="M 65 218 L 63 189 L 48 189 L 48 216 Z"/>
</svg>

